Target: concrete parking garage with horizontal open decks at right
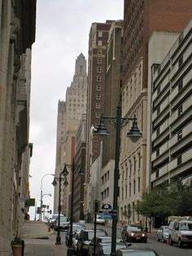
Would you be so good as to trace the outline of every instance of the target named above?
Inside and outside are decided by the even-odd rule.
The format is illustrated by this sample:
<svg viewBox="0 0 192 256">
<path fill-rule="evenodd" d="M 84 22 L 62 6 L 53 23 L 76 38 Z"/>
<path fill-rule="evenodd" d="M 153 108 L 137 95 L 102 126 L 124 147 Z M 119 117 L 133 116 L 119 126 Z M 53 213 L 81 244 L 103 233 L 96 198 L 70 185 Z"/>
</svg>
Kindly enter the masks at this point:
<svg viewBox="0 0 192 256">
<path fill-rule="evenodd" d="M 192 21 L 152 69 L 152 188 L 192 179 L 191 31 Z"/>
</svg>

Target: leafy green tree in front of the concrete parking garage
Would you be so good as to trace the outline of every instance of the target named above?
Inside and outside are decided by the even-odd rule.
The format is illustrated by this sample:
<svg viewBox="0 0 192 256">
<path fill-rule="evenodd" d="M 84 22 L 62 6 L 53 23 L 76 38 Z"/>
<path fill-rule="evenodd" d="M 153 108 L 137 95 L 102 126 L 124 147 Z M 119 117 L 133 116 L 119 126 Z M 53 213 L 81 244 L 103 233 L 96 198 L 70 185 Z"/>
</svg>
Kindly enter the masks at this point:
<svg viewBox="0 0 192 256">
<path fill-rule="evenodd" d="M 137 204 L 138 214 L 145 217 L 165 218 L 170 215 L 192 215 L 192 187 L 180 183 L 171 183 L 164 188 L 144 193 Z"/>
</svg>

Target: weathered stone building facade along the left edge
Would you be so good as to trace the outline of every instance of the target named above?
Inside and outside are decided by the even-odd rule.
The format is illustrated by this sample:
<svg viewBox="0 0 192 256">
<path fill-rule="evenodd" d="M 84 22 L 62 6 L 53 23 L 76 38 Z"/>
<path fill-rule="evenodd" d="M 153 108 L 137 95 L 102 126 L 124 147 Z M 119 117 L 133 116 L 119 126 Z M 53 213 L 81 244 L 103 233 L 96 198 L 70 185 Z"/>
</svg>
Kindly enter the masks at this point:
<svg viewBox="0 0 192 256">
<path fill-rule="evenodd" d="M 0 2 L 0 255 L 11 254 L 30 197 L 28 142 L 36 1 Z"/>
</svg>

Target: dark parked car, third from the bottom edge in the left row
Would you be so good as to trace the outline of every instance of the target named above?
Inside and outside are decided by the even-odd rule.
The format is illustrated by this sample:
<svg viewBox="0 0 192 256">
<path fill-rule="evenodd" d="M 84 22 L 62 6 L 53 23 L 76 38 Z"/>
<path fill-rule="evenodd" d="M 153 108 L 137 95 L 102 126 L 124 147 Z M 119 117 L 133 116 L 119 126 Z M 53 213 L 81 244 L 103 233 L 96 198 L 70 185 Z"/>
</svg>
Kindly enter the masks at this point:
<svg viewBox="0 0 192 256">
<path fill-rule="evenodd" d="M 120 245 L 126 245 L 124 243 L 124 241 L 120 240 L 120 239 L 116 239 L 117 243 L 120 243 Z M 98 244 L 106 244 L 109 243 L 111 245 L 111 236 L 97 236 L 96 240 L 95 240 L 95 248 Z M 92 241 L 90 241 L 89 243 L 89 247 L 88 247 L 88 256 L 92 256 L 94 254 L 94 238 L 92 239 Z"/>
</svg>

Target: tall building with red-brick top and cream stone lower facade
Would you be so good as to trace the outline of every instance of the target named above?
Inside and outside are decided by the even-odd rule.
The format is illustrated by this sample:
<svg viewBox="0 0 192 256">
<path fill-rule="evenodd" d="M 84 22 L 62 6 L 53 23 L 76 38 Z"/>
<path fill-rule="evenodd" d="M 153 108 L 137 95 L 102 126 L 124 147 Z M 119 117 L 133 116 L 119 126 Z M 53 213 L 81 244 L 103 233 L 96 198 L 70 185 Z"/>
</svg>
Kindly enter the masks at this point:
<svg viewBox="0 0 192 256">
<path fill-rule="evenodd" d="M 121 133 L 119 218 L 140 223 L 137 201 L 150 189 L 150 157 L 146 157 L 148 42 L 154 31 L 181 32 L 189 22 L 190 1 L 124 1 L 124 46 L 122 116 L 137 117 L 142 139 L 132 143 L 125 138 L 129 126 Z M 148 104 L 149 105 L 149 104 Z M 147 154 L 150 152 L 147 152 Z M 128 219 L 126 213 L 131 210 Z"/>
</svg>

